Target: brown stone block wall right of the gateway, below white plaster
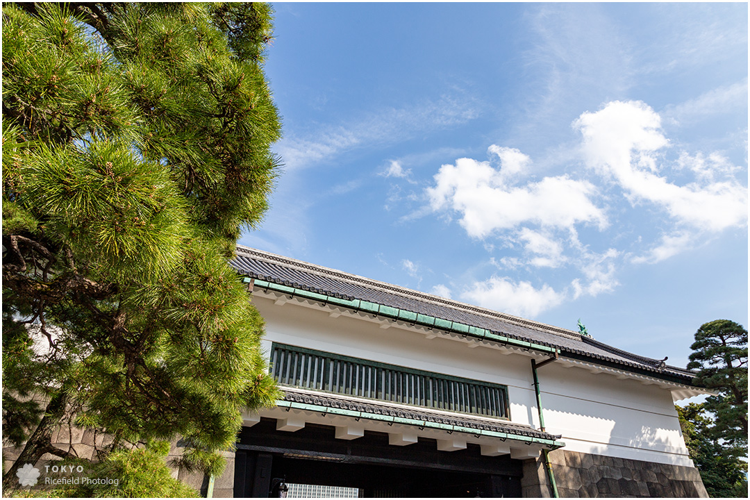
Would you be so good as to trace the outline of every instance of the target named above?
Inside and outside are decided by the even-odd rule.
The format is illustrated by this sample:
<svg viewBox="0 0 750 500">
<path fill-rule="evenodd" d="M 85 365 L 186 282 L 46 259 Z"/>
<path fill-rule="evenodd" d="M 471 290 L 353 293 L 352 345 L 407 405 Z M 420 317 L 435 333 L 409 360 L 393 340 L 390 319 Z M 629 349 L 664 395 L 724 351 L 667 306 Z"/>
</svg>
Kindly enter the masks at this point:
<svg viewBox="0 0 750 500">
<path fill-rule="evenodd" d="M 604 457 L 560 449 L 550 463 L 562 498 L 707 498 L 694 467 Z M 523 463 L 524 497 L 549 498 L 543 456 Z"/>
</svg>

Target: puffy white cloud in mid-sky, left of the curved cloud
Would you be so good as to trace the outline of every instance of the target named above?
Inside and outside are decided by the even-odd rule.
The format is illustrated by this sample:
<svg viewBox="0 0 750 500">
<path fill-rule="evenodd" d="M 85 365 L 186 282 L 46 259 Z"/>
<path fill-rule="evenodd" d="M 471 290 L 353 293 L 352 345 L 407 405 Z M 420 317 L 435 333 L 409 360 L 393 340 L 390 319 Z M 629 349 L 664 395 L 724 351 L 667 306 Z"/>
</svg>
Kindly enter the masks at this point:
<svg viewBox="0 0 750 500">
<path fill-rule="evenodd" d="M 512 229 L 523 223 L 569 228 L 576 223 L 607 224 L 604 213 L 589 199 L 595 187 L 566 175 L 545 177 L 521 186 L 507 182 L 508 175 L 528 164 L 520 151 L 490 147 L 500 156 L 500 169 L 488 162 L 459 158 L 455 165 L 443 165 L 434 175 L 435 186 L 426 190 L 433 211 L 452 210 L 461 214 L 460 225 L 474 238 L 486 238 L 497 229 Z M 510 174 L 503 170 L 508 161 Z"/>
</svg>

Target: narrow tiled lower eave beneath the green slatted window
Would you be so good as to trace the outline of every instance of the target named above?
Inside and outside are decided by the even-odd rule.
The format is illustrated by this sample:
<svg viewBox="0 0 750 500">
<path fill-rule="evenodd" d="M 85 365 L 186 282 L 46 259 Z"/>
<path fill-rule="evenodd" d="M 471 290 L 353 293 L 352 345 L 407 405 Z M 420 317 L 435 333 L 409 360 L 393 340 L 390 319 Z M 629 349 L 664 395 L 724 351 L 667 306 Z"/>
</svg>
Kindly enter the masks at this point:
<svg viewBox="0 0 750 500">
<path fill-rule="evenodd" d="M 513 436 L 526 436 L 535 439 L 546 439 L 556 441 L 561 436 L 535 430 L 533 427 L 523 424 L 514 424 L 511 421 L 502 421 L 496 418 L 481 418 L 471 415 L 456 415 L 446 412 L 431 411 L 429 409 L 417 408 L 415 406 L 383 404 L 375 400 L 364 401 L 353 398 L 335 396 L 333 394 L 311 393 L 296 388 L 284 386 L 284 401 L 290 403 L 305 403 L 326 408 L 339 408 L 350 412 L 359 412 L 364 415 L 383 415 L 410 421 L 421 421 L 423 425 L 443 424 L 465 430 L 487 430 L 494 433 L 505 433 Z M 429 423 L 429 424 L 428 424 Z"/>
</svg>

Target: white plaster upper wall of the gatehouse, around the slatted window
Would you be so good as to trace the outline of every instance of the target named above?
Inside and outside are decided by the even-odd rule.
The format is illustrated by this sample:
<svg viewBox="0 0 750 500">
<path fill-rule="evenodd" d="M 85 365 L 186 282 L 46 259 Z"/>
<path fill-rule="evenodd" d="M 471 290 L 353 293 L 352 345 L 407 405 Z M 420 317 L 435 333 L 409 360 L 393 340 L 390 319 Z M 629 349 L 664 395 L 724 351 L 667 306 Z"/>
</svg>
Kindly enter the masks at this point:
<svg viewBox="0 0 750 500">
<path fill-rule="evenodd" d="M 538 428 L 529 356 L 457 342 L 359 317 L 329 316 L 325 307 L 276 305 L 256 294 L 272 342 L 508 386 L 511 421 Z M 583 453 L 691 466 L 669 391 L 550 363 L 538 370 L 547 432 Z"/>
</svg>

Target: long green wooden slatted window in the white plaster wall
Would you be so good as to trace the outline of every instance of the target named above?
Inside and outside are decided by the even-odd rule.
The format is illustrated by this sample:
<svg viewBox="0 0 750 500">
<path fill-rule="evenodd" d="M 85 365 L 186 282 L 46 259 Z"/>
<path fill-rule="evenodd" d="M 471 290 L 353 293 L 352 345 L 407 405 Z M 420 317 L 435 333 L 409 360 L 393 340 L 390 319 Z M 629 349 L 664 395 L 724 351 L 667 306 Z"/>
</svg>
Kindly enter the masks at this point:
<svg viewBox="0 0 750 500">
<path fill-rule="evenodd" d="M 281 385 L 452 412 L 508 418 L 508 388 L 478 380 L 274 343 Z"/>
</svg>

